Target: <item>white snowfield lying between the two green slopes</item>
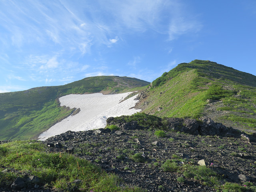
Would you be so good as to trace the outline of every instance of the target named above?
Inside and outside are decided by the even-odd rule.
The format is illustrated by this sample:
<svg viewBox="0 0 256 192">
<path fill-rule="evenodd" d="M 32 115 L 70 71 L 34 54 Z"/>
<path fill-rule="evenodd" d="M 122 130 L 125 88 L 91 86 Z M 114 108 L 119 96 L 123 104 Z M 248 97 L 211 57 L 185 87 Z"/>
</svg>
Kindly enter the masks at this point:
<svg viewBox="0 0 256 192">
<path fill-rule="evenodd" d="M 132 92 L 103 95 L 102 93 L 94 94 L 70 94 L 59 98 L 60 106 L 70 108 L 80 108 L 80 112 L 74 116 L 58 122 L 47 131 L 40 134 L 39 140 L 44 141 L 49 137 L 71 131 L 85 131 L 106 126 L 106 119 L 121 115 L 132 115 L 140 112 L 132 107 L 138 102 L 133 96 L 120 103 L 126 96 Z M 129 109 L 132 108 L 132 109 Z"/>
</svg>

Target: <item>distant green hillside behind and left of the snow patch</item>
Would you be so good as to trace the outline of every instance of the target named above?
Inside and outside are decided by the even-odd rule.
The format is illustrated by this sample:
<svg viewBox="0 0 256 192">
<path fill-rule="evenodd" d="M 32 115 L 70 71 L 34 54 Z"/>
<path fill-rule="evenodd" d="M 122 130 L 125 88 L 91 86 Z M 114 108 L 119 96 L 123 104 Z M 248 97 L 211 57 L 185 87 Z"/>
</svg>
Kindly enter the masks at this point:
<svg viewBox="0 0 256 192">
<path fill-rule="evenodd" d="M 66 118 L 75 109 L 60 107 L 58 98 L 68 94 L 113 94 L 138 90 L 149 82 L 119 76 L 84 78 L 63 86 L 32 88 L 0 94 L 0 140 L 34 139 Z"/>
</svg>

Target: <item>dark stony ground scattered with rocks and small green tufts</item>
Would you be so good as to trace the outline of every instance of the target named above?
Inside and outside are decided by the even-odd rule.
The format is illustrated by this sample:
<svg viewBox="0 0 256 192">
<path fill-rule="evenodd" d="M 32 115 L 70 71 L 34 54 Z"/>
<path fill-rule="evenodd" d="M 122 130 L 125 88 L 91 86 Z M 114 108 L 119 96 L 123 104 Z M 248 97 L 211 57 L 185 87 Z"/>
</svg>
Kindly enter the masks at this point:
<svg viewBox="0 0 256 192">
<path fill-rule="evenodd" d="M 229 132 L 228 137 L 201 136 L 168 131 L 165 137 L 159 137 L 154 133 L 145 129 L 68 131 L 44 143 L 47 152 L 72 153 L 114 172 L 123 184 L 148 192 L 222 190 L 202 178 L 185 177 L 184 170 L 164 168 L 168 160 L 178 167 L 205 164 L 217 173 L 219 186 L 226 182 L 256 183 L 256 143 L 246 135 L 230 136 Z M 34 191 L 49 190 L 38 186 Z"/>
</svg>

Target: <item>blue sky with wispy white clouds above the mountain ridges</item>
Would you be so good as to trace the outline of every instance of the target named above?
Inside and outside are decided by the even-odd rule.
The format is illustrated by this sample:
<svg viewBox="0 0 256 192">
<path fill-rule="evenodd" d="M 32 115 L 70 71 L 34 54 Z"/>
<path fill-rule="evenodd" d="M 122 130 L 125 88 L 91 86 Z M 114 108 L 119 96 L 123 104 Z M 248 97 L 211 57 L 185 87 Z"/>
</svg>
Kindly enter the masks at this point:
<svg viewBox="0 0 256 192">
<path fill-rule="evenodd" d="M 194 59 L 256 75 L 256 1 L 0 0 L 0 92 Z"/>
</svg>

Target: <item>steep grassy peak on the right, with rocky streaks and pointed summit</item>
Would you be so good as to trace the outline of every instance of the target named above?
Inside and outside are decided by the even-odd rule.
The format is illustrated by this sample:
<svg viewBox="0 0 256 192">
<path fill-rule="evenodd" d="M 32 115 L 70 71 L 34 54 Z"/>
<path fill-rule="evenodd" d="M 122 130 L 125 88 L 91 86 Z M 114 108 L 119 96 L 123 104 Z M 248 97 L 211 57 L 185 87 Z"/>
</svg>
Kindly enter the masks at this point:
<svg viewBox="0 0 256 192">
<path fill-rule="evenodd" d="M 160 117 L 209 116 L 256 130 L 256 76 L 215 62 L 179 64 L 152 82 L 136 106 Z"/>
</svg>

